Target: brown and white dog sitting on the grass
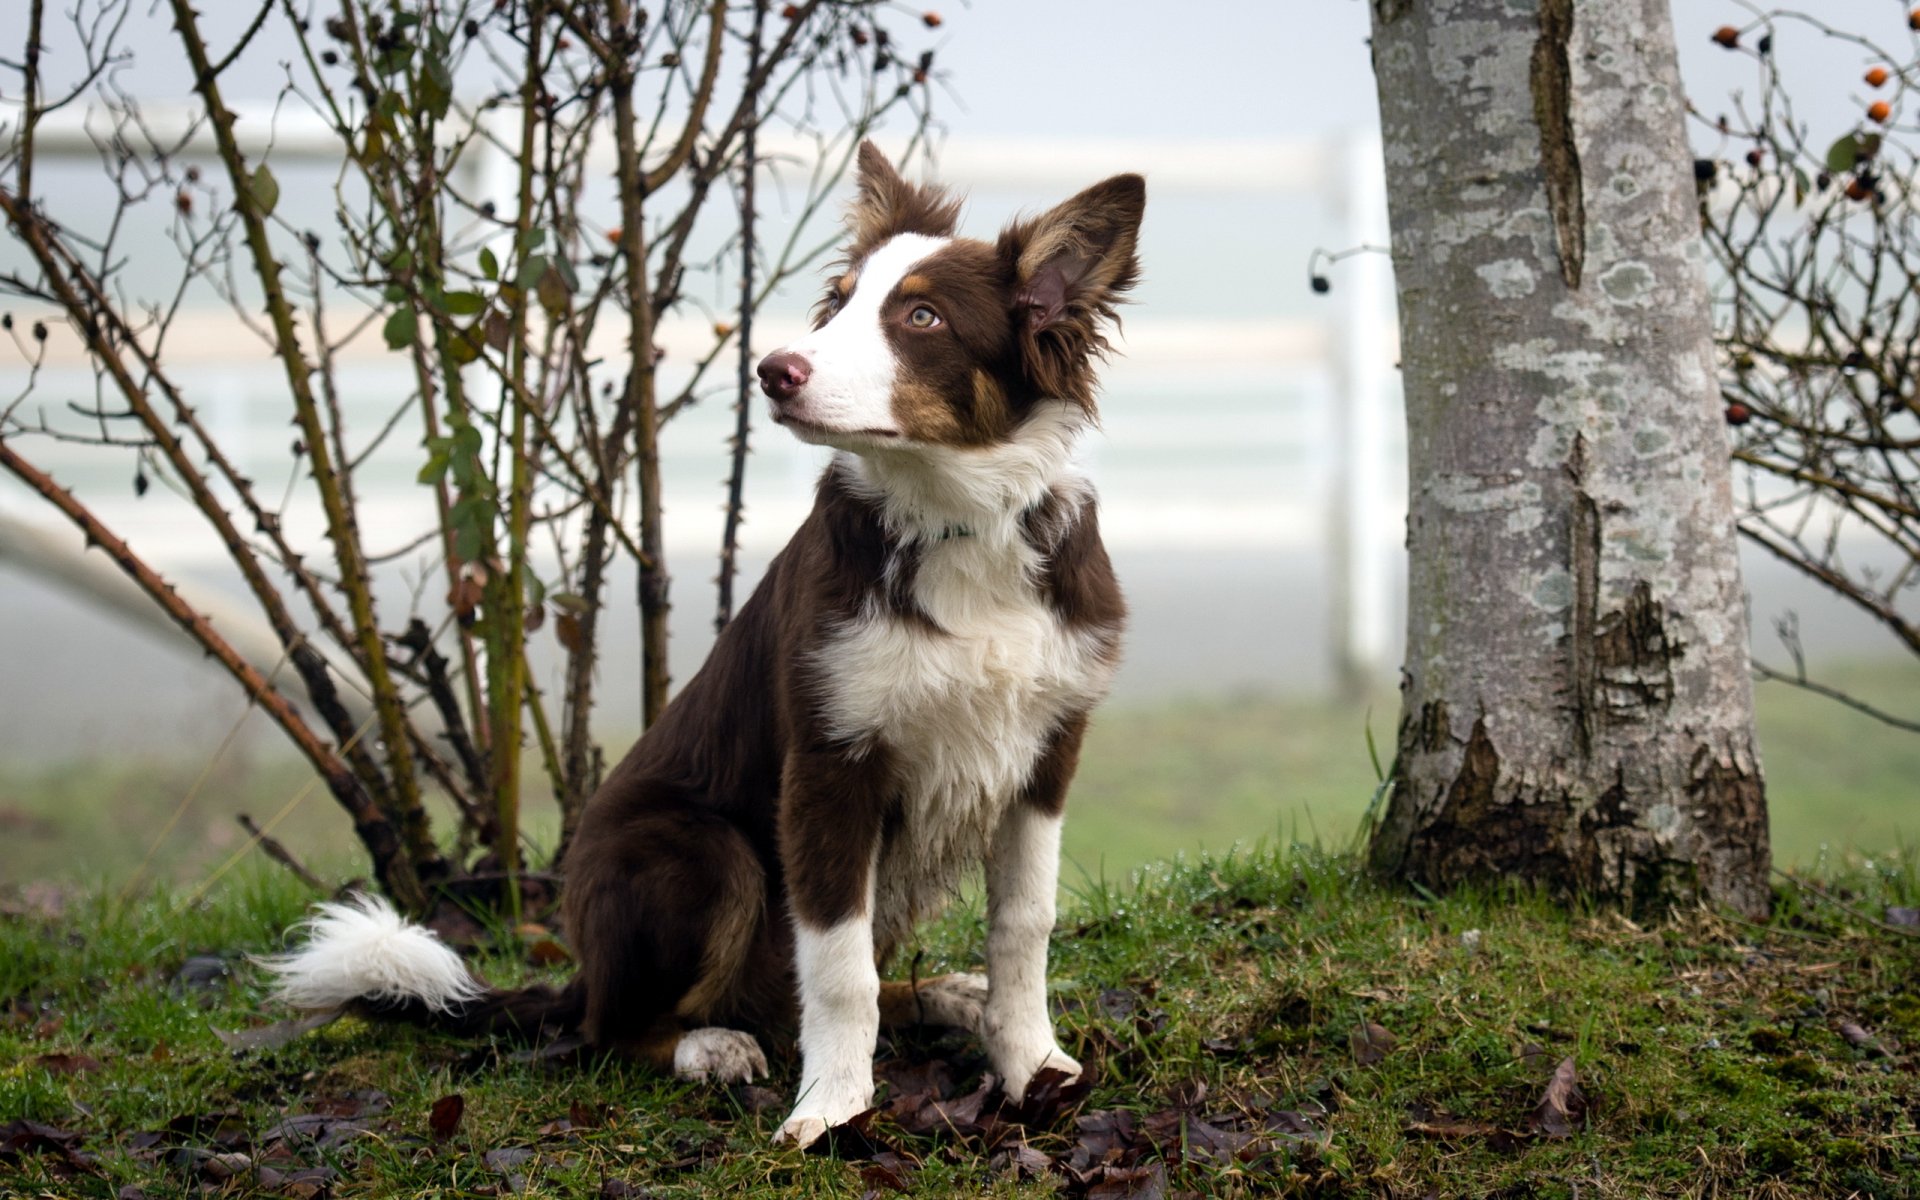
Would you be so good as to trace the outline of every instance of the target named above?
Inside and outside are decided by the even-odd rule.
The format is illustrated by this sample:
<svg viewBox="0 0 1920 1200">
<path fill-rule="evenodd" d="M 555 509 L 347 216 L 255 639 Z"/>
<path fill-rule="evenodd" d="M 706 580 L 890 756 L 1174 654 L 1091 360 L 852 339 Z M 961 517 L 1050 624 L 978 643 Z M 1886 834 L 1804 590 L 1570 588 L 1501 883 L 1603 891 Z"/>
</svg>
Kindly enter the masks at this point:
<svg viewBox="0 0 1920 1200">
<path fill-rule="evenodd" d="M 707 664 L 588 803 L 564 987 L 493 991 L 378 900 L 275 960 L 303 1008 L 576 1029 L 684 1077 L 766 1071 L 799 1018 L 781 1140 L 874 1098 L 881 1021 L 975 1029 L 1012 1098 L 1069 1075 L 1046 1012 L 1060 818 L 1125 605 L 1073 465 L 1146 186 L 1119 175 L 954 236 L 958 202 L 860 146 L 852 244 L 814 328 L 760 363 L 774 420 L 839 449 Z M 985 862 L 987 975 L 879 964 Z"/>
</svg>

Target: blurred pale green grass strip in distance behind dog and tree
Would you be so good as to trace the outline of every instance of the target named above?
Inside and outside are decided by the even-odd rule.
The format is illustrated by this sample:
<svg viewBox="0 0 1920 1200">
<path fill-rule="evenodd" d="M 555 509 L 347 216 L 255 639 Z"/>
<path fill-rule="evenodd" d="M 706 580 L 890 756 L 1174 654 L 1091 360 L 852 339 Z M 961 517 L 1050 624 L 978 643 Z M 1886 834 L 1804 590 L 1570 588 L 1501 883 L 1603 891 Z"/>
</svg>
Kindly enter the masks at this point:
<svg viewBox="0 0 1920 1200">
<path fill-rule="evenodd" d="M 1822 678 L 1897 712 L 1920 697 L 1920 662 L 1855 664 Z M 1782 866 L 1818 866 L 1853 847 L 1920 845 L 1920 735 L 1784 684 L 1761 685 L 1757 710 Z M 1242 695 L 1104 708 L 1073 785 L 1068 860 L 1092 877 L 1123 879 L 1175 851 L 1260 837 L 1344 845 L 1373 791 L 1367 726 L 1390 755 L 1396 720 L 1390 695 L 1371 705 Z M 204 770 L 205 756 L 0 766 L 0 879 L 121 883 L 152 851 L 159 877 L 200 881 L 242 845 L 234 812 L 267 822 L 311 778 L 286 758 L 221 760 L 202 781 Z M 161 835 L 175 812 L 180 820 Z M 528 812 L 540 841 L 551 804 L 536 801 Z M 319 789 L 292 806 L 276 835 L 309 862 L 355 870 L 348 824 Z"/>
</svg>

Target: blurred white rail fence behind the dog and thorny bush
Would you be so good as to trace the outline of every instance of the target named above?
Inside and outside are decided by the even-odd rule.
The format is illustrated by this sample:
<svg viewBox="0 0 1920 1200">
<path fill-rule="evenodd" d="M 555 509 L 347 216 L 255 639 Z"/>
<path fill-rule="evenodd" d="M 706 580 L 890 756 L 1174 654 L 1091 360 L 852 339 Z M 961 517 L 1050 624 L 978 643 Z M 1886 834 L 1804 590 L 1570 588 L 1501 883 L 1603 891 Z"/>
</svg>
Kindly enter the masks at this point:
<svg viewBox="0 0 1920 1200">
<path fill-rule="evenodd" d="M 211 152 L 204 134 L 192 134 L 188 111 L 148 109 L 140 129 L 177 154 Z M 250 156 L 271 154 L 282 196 L 301 165 L 317 173 L 338 165 L 338 138 L 315 117 L 250 111 L 238 129 Z M 117 154 L 115 138 L 129 136 L 125 131 L 102 113 L 44 121 L 42 194 L 81 204 L 83 196 L 61 188 L 79 188 L 102 156 Z M 0 138 L 10 136 L 13 125 L 6 123 Z M 1308 563 L 1306 570 L 1325 572 L 1323 612 L 1313 624 L 1325 630 L 1321 653 L 1332 678 L 1356 685 L 1382 678 L 1400 645 L 1396 578 L 1405 511 L 1390 271 L 1382 255 L 1359 255 L 1340 265 L 1331 296 L 1315 298 L 1306 286 L 1313 246 L 1384 246 L 1379 142 L 952 138 L 937 163 L 943 179 L 972 192 L 975 209 L 989 211 L 973 219 L 981 228 L 996 205 L 1058 200 L 1114 171 L 1148 175 L 1148 284 L 1142 303 L 1127 313 L 1125 357 L 1108 369 L 1104 430 L 1089 447 L 1110 541 L 1116 553 L 1215 547 L 1296 555 L 1290 561 Z M 480 194 L 503 190 L 497 182 L 509 167 L 493 150 L 463 165 Z M 0 269 L 17 261 L 17 250 L 0 244 Z M 764 348 L 799 328 L 806 300 L 776 303 L 760 323 Z M 12 307 L 15 319 L 35 317 Z M 666 363 L 684 363 L 710 346 L 710 326 L 680 317 L 664 324 L 660 342 Z M 614 357 L 626 351 L 616 344 L 603 349 Z M 192 378 L 209 424 L 234 438 L 236 457 L 263 480 L 284 480 L 286 409 L 276 403 L 276 369 L 259 336 L 225 309 L 186 311 L 169 334 L 167 357 Z M 353 384 L 349 428 L 374 428 L 405 399 L 407 372 L 374 330 L 340 361 Z M 21 365 L 0 357 L 0 396 L 12 397 L 23 384 Z M 56 324 L 36 394 L 58 405 L 90 399 L 92 388 L 84 349 Z M 666 434 L 670 553 L 705 553 L 718 541 L 724 409 L 720 397 L 697 405 Z M 217 547 L 192 522 L 132 495 L 125 459 L 52 444 L 42 449 L 63 482 L 96 495 L 102 516 L 159 564 L 186 576 L 215 564 Z M 776 432 L 756 436 L 749 557 L 770 555 L 785 540 L 804 513 L 816 467 L 810 447 Z M 367 528 L 409 528 L 422 503 L 405 472 L 369 478 L 361 497 L 372 507 Z M 6 480 L 0 516 L 56 524 Z M 1194 597 L 1194 620 L 1206 620 L 1206 599 Z"/>
</svg>

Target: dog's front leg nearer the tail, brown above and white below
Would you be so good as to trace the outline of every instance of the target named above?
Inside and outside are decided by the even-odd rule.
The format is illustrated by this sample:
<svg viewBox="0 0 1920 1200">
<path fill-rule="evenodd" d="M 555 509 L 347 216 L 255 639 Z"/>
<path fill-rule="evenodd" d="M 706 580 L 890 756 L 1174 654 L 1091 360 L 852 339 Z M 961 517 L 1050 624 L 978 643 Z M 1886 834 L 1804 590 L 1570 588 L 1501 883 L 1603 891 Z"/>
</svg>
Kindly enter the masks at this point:
<svg viewBox="0 0 1920 1200">
<path fill-rule="evenodd" d="M 879 812 L 858 766 L 829 756 L 787 762 L 780 841 L 801 1000 L 801 1092 L 778 1142 L 804 1146 L 874 1104 Z"/>
</svg>

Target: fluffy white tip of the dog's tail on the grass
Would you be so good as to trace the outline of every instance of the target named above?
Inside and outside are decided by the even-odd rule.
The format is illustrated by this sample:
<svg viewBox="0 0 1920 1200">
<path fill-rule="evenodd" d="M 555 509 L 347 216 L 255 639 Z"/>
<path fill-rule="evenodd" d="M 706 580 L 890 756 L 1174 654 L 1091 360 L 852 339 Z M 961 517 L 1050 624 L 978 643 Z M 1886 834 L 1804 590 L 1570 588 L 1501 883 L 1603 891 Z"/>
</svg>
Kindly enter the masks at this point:
<svg viewBox="0 0 1920 1200">
<path fill-rule="evenodd" d="M 294 1008 L 419 1000 L 449 1012 L 486 995 L 440 935 L 407 924 L 380 897 L 321 904 L 301 929 L 305 947 L 261 960 L 276 979 L 275 995 Z"/>
</svg>

